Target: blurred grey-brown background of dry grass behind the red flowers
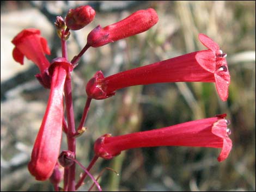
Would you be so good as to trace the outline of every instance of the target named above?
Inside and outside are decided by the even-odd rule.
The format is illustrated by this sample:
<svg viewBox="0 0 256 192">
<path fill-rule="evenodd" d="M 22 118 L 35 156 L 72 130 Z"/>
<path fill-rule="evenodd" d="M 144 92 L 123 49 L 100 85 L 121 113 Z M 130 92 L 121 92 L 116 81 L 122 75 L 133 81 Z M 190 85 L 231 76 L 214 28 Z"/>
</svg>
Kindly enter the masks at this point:
<svg viewBox="0 0 256 192">
<path fill-rule="evenodd" d="M 86 126 L 77 139 L 77 159 L 87 166 L 93 143 L 102 134 L 145 131 L 227 113 L 233 149 L 227 160 L 217 161 L 219 149 L 198 147 L 138 148 L 112 160 L 100 159 L 92 174 L 106 167 L 99 182 L 103 190 L 120 191 L 255 191 L 255 1 L 1 1 L 1 191 L 53 190 L 50 182 L 37 182 L 27 163 L 44 116 L 48 90 L 34 75 L 39 72 L 25 59 L 12 58 L 11 40 L 24 28 L 38 28 L 52 54 L 61 55 L 54 30 L 56 16 L 70 8 L 91 5 L 92 23 L 71 32 L 69 59 L 86 45 L 87 34 L 129 16 L 154 8 L 159 22 L 147 32 L 90 48 L 72 73 L 76 126 L 86 103 L 85 84 L 97 70 L 105 76 L 206 49 L 198 40 L 204 33 L 223 52 L 231 76 L 229 98 L 222 102 L 214 83 L 161 83 L 117 91 L 107 100 L 93 100 Z M 63 150 L 66 149 L 63 137 Z M 77 166 L 77 178 L 82 172 Z M 80 189 L 88 190 L 87 178 Z M 93 190 L 97 190 L 94 188 Z"/>
</svg>

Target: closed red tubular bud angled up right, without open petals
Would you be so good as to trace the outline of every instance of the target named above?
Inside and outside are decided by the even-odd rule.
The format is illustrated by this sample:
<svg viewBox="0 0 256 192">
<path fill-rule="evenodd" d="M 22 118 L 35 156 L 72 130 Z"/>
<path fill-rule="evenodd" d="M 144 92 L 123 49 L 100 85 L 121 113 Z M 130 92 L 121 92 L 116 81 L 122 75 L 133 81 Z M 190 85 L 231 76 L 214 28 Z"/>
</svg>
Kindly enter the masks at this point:
<svg viewBox="0 0 256 192">
<path fill-rule="evenodd" d="M 97 26 L 87 36 L 87 44 L 92 47 L 100 47 L 109 42 L 127 38 L 145 32 L 158 21 L 154 9 L 139 10 L 123 20 L 101 28 Z"/>
</svg>

